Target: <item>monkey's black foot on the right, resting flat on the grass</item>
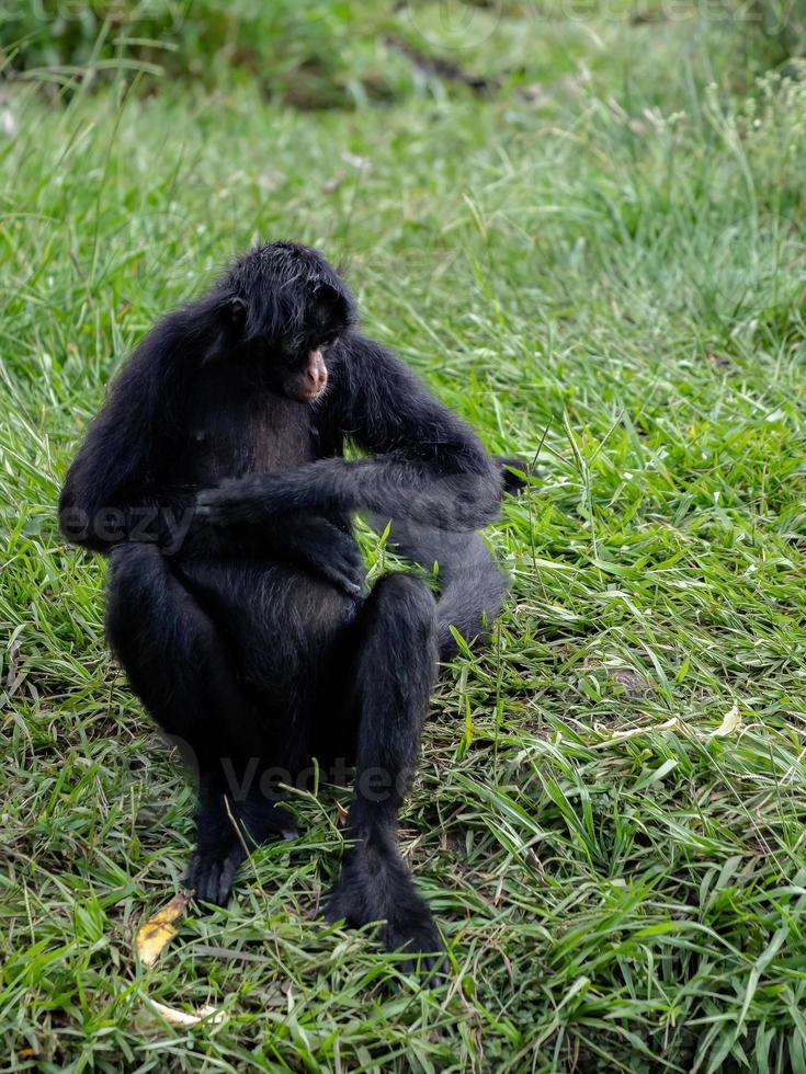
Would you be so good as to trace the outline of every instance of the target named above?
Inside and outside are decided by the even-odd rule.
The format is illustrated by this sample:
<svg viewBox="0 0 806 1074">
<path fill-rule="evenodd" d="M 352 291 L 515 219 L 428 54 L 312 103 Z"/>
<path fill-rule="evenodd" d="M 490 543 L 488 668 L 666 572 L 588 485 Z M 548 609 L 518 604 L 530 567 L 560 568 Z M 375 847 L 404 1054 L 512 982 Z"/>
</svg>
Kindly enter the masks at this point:
<svg viewBox="0 0 806 1074">
<path fill-rule="evenodd" d="M 396 854 L 378 856 L 361 846 L 349 850 L 325 904 L 325 918 L 353 928 L 381 922 L 378 937 L 387 951 L 400 953 L 404 972 L 445 969 L 445 948 L 431 911 Z"/>
</svg>

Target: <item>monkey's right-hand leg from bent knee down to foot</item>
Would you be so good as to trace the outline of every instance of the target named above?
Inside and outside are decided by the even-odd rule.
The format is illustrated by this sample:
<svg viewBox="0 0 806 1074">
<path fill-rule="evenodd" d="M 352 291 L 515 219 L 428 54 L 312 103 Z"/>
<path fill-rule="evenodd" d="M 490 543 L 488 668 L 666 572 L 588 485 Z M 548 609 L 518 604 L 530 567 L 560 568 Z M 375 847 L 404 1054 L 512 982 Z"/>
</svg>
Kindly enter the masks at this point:
<svg viewBox="0 0 806 1074">
<path fill-rule="evenodd" d="M 420 730 L 436 674 L 434 601 L 425 584 L 406 574 L 382 579 L 364 604 L 349 690 L 356 731 L 355 787 L 347 850 L 326 916 L 359 926 L 382 921 L 389 950 L 402 948 L 406 966 L 419 952 L 434 956 L 442 941 L 415 890 L 397 847 L 397 815 L 420 756 Z M 425 968 L 442 956 L 424 959 Z"/>
</svg>

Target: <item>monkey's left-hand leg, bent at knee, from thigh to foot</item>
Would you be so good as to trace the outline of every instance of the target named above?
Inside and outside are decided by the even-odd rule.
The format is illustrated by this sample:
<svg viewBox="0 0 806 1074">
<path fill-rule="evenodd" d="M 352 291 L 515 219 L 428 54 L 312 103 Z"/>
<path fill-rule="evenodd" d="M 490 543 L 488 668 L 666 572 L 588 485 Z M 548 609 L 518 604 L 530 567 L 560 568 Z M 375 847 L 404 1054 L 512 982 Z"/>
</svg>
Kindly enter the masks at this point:
<svg viewBox="0 0 806 1074">
<path fill-rule="evenodd" d="M 188 882 L 201 902 L 223 905 L 246 857 L 243 842 L 293 827 L 290 814 L 253 786 L 260 742 L 252 708 L 218 628 L 156 545 L 118 545 L 107 586 L 106 633 L 129 683 L 198 769 L 197 847 Z"/>
</svg>

